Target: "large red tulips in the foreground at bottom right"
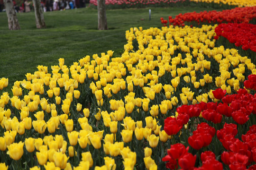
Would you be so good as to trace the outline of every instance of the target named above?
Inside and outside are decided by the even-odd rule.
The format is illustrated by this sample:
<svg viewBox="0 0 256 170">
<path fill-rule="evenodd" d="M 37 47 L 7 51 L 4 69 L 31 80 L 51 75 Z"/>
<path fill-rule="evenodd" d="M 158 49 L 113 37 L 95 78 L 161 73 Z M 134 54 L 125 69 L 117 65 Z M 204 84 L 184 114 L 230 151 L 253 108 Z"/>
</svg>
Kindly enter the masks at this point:
<svg viewBox="0 0 256 170">
<path fill-rule="evenodd" d="M 255 88 L 255 75 L 248 78 L 248 81 L 254 85 L 250 89 Z M 237 94 L 226 95 L 226 91 L 219 88 L 213 91 L 213 95 L 219 99 L 218 103 L 201 102 L 195 105 L 182 105 L 177 108 L 176 118 L 165 119 L 165 132 L 174 136 L 179 134 L 189 119 L 204 121 L 197 125 L 196 130 L 192 131 L 192 136 L 189 136 L 187 142 L 183 143 L 185 145 L 188 143 L 190 146 L 186 147 L 180 143 L 171 145 L 167 150 L 167 155 L 162 159 L 162 161 L 167 161 L 166 168 L 256 169 L 256 125 L 254 125 L 256 94 L 252 95 L 246 89 L 239 89 Z M 193 125 L 190 127 L 192 130 Z M 245 132 L 246 134 L 243 135 Z M 181 133 L 179 137 L 182 135 Z M 199 167 L 195 167 L 196 165 Z"/>
</svg>

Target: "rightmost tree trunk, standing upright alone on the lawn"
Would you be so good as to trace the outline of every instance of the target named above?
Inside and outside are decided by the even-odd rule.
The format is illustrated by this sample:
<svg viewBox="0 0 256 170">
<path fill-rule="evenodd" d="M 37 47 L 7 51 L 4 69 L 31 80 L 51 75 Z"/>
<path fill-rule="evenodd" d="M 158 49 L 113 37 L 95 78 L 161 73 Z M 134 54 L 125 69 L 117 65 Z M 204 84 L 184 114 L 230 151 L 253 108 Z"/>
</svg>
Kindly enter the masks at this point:
<svg viewBox="0 0 256 170">
<path fill-rule="evenodd" d="M 106 4 L 105 0 L 98 0 L 98 30 L 106 30 L 107 26 L 107 15 L 106 15 Z"/>
</svg>

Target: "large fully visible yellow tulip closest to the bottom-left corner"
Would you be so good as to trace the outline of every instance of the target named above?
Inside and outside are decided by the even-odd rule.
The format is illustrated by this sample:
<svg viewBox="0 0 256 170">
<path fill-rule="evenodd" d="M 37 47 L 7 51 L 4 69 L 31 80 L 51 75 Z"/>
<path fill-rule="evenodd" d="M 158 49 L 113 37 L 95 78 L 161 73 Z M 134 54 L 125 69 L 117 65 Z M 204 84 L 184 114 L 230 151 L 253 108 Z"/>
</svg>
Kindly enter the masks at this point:
<svg viewBox="0 0 256 170">
<path fill-rule="evenodd" d="M 7 146 L 7 154 L 9 154 L 11 159 L 18 161 L 23 155 L 23 146 L 24 143 L 21 141 L 19 143 L 10 144 Z"/>
</svg>

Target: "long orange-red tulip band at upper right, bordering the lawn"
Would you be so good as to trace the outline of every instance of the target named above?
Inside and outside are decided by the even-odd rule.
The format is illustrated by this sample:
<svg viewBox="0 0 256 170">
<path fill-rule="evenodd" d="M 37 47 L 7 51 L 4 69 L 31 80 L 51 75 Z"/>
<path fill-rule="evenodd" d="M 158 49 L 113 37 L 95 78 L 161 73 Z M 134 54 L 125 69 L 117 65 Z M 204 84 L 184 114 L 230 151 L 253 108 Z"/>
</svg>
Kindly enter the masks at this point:
<svg viewBox="0 0 256 170">
<path fill-rule="evenodd" d="M 201 23 L 249 23 L 251 20 L 255 22 L 256 18 L 256 6 L 234 8 L 222 11 L 203 11 L 200 13 L 189 12 L 185 14 L 179 14 L 175 18 L 169 17 L 168 21 L 170 25 L 184 26 L 185 22 L 196 22 L 198 25 Z M 161 23 L 166 26 L 167 20 L 161 18 Z"/>
</svg>

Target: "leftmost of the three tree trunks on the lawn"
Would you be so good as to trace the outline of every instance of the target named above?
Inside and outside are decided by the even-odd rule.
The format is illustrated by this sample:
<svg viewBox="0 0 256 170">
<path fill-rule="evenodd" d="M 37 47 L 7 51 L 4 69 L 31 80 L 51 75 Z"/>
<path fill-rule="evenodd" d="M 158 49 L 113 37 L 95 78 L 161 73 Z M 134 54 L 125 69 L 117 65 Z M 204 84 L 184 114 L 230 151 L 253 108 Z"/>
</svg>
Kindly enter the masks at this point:
<svg viewBox="0 0 256 170">
<path fill-rule="evenodd" d="M 6 14 L 8 17 L 9 30 L 20 29 L 18 24 L 18 18 L 16 16 L 12 0 L 4 0 L 4 6 L 5 6 Z"/>
</svg>

